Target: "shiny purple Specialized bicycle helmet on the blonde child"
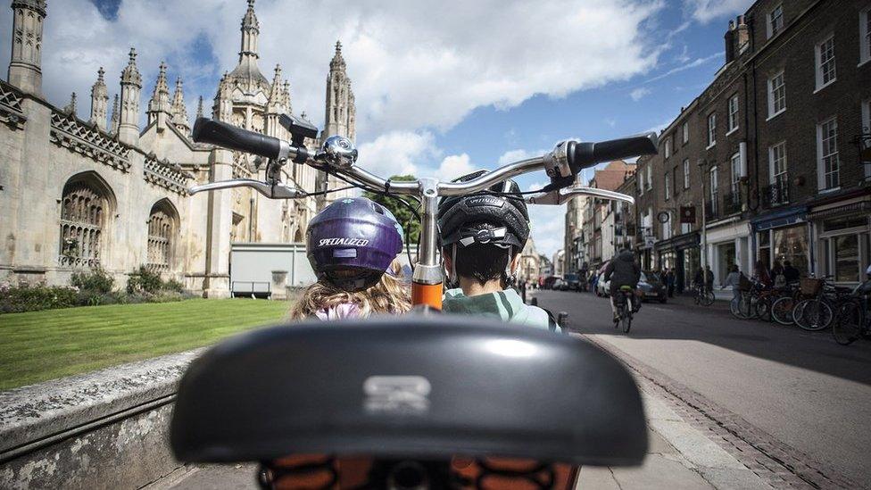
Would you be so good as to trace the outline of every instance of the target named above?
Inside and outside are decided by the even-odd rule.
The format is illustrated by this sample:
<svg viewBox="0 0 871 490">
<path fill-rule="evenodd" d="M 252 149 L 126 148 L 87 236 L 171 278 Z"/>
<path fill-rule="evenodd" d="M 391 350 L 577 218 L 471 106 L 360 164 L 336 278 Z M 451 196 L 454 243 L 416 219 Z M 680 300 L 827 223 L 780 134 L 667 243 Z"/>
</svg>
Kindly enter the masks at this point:
<svg viewBox="0 0 871 490">
<path fill-rule="evenodd" d="M 402 252 L 402 225 L 365 197 L 340 199 L 311 219 L 305 248 L 319 280 L 360 291 L 375 286 Z"/>
</svg>

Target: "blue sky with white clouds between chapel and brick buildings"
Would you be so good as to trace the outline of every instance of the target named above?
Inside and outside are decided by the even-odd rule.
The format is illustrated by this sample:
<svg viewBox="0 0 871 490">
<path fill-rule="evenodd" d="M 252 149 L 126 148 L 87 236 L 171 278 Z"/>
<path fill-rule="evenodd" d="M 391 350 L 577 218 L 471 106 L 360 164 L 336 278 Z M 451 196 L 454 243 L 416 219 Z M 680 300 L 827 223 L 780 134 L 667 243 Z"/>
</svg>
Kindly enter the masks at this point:
<svg viewBox="0 0 871 490">
<path fill-rule="evenodd" d="M 357 96 L 361 164 L 384 174 L 454 177 L 557 141 L 598 140 L 665 127 L 723 63 L 728 20 L 751 0 L 257 0 L 261 71 L 282 65 L 294 112 L 323 120 L 336 39 Z M 379 6 L 380 5 L 380 6 Z M 211 107 L 232 70 L 245 0 L 53 0 L 43 54 L 46 97 L 79 94 L 87 119 L 100 66 L 110 94 L 136 46 L 143 111 L 157 66 L 185 81 L 188 112 Z M 10 9 L 0 25 L 11 26 Z M 8 63 L 10 39 L 0 39 Z M 520 180 L 529 188 L 543 175 Z M 561 208 L 531 210 L 535 243 L 562 244 Z"/>
</svg>

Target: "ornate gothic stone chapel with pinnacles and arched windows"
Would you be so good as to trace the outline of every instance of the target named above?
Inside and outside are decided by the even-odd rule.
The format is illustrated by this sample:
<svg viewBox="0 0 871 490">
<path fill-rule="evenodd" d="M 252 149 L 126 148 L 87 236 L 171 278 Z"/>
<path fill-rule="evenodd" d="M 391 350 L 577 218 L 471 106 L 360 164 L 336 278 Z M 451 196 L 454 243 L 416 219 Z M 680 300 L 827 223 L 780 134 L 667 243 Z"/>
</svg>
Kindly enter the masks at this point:
<svg viewBox="0 0 871 490">
<path fill-rule="evenodd" d="M 195 184 L 264 176 L 250 155 L 190 139 L 182 80 L 176 79 L 170 96 L 164 63 L 145 107 L 144 129 L 135 49 L 120 73 L 120 96 L 114 97 L 111 114 L 100 68 L 90 117 L 81 120 L 75 94 L 63 108 L 42 96 L 46 1 L 13 0 L 12 11 L 12 60 L 7 81 L 0 80 L 0 281 L 63 285 L 76 270 L 101 267 L 123 286 L 130 272 L 145 266 L 196 294 L 222 297 L 229 295 L 232 242 L 303 240 L 306 224 L 325 199 L 270 202 L 251 189 L 188 195 Z M 278 116 L 291 110 L 290 84 L 279 66 L 271 82 L 261 73 L 259 33 L 254 0 L 248 0 L 239 62 L 218 83 L 212 118 L 289 139 Z M 197 115 L 202 114 L 200 97 Z M 336 43 L 326 129 L 318 139 L 353 139 L 354 126 L 351 81 Z M 338 187 L 335 178 L 300 165 L 287 167 L 283 179 L 309 190 Z"/>
</svg>

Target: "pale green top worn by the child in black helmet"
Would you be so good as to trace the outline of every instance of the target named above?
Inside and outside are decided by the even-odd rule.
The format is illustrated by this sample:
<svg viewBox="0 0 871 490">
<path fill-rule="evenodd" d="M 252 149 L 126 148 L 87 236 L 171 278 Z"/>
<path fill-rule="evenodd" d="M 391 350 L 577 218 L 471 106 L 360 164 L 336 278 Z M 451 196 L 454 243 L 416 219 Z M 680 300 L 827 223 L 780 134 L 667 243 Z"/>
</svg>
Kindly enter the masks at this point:
<svg viewBox="0 0 871 490">
<path fill-rule="evenodd" d="M 547 311 L 523 303 L 520 295 L 514 289 L 477 296 L 463 295 L 460 288 L 448 289 L 444 292 L 442 311 L 464 315 L 484 315 L 535 328 L 551 329 L 555 327 L 555 323 Z"/>
</svg>

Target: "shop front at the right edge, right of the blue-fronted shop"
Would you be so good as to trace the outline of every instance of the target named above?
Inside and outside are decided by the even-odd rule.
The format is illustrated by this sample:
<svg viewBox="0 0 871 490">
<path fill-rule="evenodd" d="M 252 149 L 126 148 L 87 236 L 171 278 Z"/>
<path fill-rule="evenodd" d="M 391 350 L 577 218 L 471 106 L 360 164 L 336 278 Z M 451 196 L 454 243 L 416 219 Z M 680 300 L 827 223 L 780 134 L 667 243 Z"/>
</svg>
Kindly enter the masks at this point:
<svg viewBox="0 0 871 490">
<path fill-rule="evenodd" d="M 816 270 L 842 286 L 865 279 L 871 263 L 871 195 L 810 209 L 818 257 Z"/>
</svg>

